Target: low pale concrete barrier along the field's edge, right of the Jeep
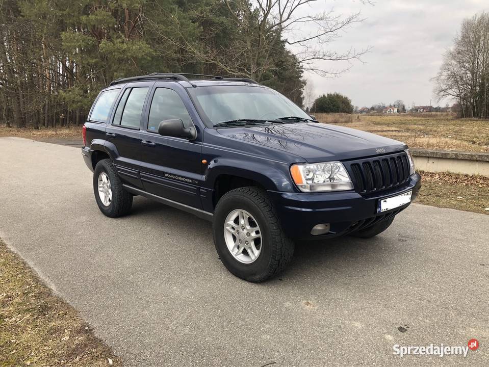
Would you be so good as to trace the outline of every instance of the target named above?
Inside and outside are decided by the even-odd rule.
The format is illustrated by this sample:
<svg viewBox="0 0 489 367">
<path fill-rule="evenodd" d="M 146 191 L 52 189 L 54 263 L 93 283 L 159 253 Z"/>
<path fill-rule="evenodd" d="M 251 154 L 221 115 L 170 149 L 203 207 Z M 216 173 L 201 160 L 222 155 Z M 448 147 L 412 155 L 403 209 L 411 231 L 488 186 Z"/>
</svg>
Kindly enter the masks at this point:
<svg viewBox="0 0 489 367">
<path fill-rule="evenodd" d="M 409 149 L 417 170 L 489 177 L 489 153 L 456 150 Z"/>
</svg>

